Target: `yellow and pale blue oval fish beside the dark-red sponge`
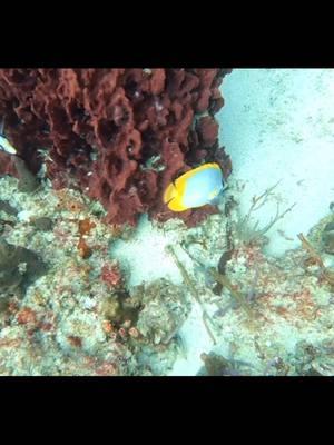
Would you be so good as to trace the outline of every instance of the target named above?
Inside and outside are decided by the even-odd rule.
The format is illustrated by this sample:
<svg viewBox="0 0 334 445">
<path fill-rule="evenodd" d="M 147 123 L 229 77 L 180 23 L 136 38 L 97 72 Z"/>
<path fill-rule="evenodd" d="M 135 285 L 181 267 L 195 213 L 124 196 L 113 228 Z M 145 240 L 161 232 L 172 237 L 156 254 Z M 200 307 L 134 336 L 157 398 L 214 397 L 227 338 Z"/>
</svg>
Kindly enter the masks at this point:
<svg viewBox="0 0 334 445">
<path fill-rule="evenodd" d="M 173 211 L 185 211 L 216 204 L 224 189 L 223 171 L 218 164 L 204 164 L 169 184 L 164 194 L 164 202 Z"/>
</svg>

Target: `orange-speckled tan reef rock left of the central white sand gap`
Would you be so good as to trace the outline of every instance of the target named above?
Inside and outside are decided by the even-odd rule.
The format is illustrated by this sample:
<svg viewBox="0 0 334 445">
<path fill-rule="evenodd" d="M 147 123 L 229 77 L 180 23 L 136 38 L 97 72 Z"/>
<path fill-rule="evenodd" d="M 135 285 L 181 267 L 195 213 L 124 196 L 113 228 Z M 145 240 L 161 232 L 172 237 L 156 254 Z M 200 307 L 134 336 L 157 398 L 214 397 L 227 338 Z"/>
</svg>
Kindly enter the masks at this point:
<svg viewBox="0 0 334 445">
<path fill-rule="evenodd" d="M 27 195 L 18 179 L 4 177 L 2 215 L 0 375 L 161 375 L 171 368 L 189 310 L 185 289 L 167 279 L 129 288 L 128 273 L 110 258 L 120 233 L 101 221 L 101 206 L 46 184 Z M 80 240 L 90 255 L 82 255 Z"/>
</svg>

